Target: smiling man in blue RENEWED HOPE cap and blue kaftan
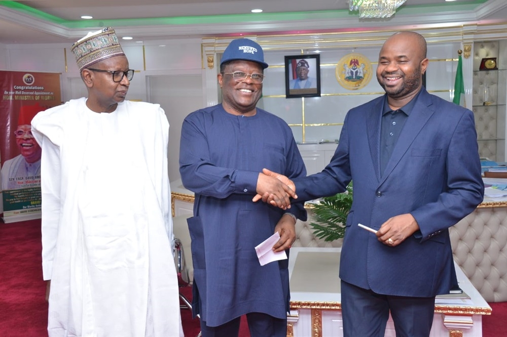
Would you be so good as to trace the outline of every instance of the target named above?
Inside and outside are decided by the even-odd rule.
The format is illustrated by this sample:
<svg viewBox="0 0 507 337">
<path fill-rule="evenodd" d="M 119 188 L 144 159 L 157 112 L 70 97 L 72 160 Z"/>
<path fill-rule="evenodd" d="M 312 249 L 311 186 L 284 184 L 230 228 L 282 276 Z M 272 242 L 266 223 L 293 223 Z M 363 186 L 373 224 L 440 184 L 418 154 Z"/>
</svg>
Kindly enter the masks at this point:
<svg viewBox="0 0 507 337">
<path fill-rule="evenodd" d="M 192 306 L 203 337 L 237 336 L 244 314 L 251 337 L 285 337 L 287 331 L 288 260 L 262 266 L 256 246 L 277 233 L 272 249 L 288 252 L 296 220 L 306 220 L 306 212 L 302 203 L 289 208 L 293 190 L 260 172 L 266 167 L 296 178 L 306 170 L 287 123 L 257 107 L 267 67 L 255 41 L 231 41 L 218 74 L 222 103 L 183 122 L 179 171 L 195 193 L 188 219 Z M 251 201 L 267 190 L 282 208 Z"/>
</svg>

